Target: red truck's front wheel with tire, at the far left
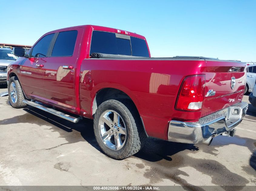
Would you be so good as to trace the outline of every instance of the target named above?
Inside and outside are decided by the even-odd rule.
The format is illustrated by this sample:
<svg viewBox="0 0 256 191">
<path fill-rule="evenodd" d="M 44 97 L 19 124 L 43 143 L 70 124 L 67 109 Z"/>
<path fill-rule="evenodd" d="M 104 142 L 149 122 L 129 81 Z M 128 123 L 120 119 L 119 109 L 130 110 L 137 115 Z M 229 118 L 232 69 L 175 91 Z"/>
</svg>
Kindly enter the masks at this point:
<svg viewBox="0 0 256 191">
<path fill-rule="evenodd" d="M 13 76 L 9 79 L 8 82 L 8 95 L 11 106 L 14 108 L 24 108 L 27 107 L 27 104 L 23 103 L 24 94 L 20 82 L 18 81 L 17 76 Z"/>
</svg>

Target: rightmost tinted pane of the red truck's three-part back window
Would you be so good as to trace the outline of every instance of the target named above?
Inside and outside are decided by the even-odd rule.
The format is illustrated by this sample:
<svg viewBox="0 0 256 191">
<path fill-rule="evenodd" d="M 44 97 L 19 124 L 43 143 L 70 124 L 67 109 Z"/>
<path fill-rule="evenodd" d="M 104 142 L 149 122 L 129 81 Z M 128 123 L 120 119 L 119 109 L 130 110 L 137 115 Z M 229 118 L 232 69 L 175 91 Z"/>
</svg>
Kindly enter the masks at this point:
<svg viewBox="0 0 256 191">
<path fill-rule="evenodd" d="M 132 56 L 149 57 L 146 41 L 140 38 L 131 37 Z"/>
</svg>

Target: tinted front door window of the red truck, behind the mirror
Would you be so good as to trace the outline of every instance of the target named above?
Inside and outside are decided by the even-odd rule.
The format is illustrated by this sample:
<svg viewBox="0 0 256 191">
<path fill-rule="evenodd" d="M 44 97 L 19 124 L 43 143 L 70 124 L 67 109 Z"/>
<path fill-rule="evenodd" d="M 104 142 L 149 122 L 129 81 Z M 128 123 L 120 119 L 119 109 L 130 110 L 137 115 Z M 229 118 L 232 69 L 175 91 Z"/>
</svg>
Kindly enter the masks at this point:
<svg viewBox="0 0 256 191">
<path fill-rule="evenodd" d="M 46 57 L 53 36 L 54 33 L 48 34 L 39 40 L 38 43 L 36 43 L 36 45 L 33 47 L 31 57 Z"/>
</svg>

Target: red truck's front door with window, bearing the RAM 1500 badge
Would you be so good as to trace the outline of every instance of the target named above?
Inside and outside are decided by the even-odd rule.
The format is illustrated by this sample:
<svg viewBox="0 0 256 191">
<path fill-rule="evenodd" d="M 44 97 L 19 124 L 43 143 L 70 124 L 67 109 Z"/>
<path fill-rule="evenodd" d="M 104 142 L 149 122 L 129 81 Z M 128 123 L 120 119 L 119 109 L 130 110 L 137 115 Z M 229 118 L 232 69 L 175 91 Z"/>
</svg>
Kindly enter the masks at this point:
<svg viewBox="0 0 256 191">
<path fill-rule="evenodd" d="M 43 36 L 32 47 L 30 58 L 25 58 L 20 68 L 23 91 L 32 97 L 45 99 L 43 70 L 46 56 L 55 33 Z"/>
</svg>

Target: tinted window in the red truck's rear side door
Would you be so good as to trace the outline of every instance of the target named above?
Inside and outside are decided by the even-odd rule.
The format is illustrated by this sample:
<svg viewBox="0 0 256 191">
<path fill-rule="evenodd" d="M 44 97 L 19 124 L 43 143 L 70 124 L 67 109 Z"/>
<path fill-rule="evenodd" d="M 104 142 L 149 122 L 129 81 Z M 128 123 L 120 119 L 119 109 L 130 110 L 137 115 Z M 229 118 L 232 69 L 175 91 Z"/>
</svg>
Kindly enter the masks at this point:
<svg viewBox="0 0 256 191">
<path fill-rule="evenodd" d="M 75 48 L 77 30 L 58 33 L 52 49 L 52 56 L 72 56 Z"/>
</svg>

